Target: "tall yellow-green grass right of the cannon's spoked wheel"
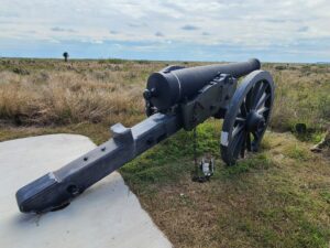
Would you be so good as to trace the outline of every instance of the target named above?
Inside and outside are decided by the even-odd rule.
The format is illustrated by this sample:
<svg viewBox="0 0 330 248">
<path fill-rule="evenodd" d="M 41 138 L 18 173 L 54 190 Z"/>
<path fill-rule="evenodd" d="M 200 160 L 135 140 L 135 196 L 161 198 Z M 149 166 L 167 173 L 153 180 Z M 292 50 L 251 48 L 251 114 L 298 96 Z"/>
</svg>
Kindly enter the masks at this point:
<svg viewBox="0 0 330 248">
<path fill-rule="evenodd" d="M 273 129 L 289 131 L 299 122 L 311 131 L 327 128 L 330 123 L 329 65 L 266 64 L 264 68 L 271 72 L 276 84 Z"/>
</svg>

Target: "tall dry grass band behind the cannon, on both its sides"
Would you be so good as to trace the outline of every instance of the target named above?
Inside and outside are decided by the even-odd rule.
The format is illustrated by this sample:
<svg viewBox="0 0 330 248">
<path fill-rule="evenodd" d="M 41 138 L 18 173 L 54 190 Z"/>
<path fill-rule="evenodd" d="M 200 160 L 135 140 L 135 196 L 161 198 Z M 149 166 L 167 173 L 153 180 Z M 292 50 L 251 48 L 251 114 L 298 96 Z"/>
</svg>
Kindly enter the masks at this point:
<svg viewBox="0 0 330 248">
<path fill-rule="evenodd" d="M 143 118 L 142 91 L 147 76 L 164 66 L 166 63 L 116 60 L 1 60 L 0 120 L 19 126 L 133 125 Z M 273 129 L 293 130 L 297 122 L 311 131 L 326 129 L 330 66 L 265 64 L 263 68 L 276 83 Z"/>
</svg>

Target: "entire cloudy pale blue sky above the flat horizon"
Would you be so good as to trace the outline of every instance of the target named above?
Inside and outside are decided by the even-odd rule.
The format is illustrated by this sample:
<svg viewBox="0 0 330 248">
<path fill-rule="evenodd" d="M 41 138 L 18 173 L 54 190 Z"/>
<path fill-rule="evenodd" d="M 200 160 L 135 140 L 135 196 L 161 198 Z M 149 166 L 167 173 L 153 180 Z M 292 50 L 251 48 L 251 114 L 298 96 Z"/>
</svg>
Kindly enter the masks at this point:
<svg viewBox="0 0 330 248">
<path fill-rule="evenodd" d="M 0 57 L 330 62 L 329 0 L 0 0 Z"/>
</svg>

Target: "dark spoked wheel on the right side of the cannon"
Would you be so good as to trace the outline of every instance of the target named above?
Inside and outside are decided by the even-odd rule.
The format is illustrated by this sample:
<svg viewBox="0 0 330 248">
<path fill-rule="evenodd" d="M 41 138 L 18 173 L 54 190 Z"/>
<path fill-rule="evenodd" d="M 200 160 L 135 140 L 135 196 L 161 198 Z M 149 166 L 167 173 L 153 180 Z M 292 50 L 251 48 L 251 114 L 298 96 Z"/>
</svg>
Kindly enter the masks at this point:
<svg viewBox="0 0 330 248">
<path fill-rule="evenodd" d="M 245 150 L 257 151 L 267 128 L 274 100 L 274 83 L 270 73 L 249 74 L 234 93 L 224 116 L 221 155 L 228 165 L 244 158 Z"/>
</svg>

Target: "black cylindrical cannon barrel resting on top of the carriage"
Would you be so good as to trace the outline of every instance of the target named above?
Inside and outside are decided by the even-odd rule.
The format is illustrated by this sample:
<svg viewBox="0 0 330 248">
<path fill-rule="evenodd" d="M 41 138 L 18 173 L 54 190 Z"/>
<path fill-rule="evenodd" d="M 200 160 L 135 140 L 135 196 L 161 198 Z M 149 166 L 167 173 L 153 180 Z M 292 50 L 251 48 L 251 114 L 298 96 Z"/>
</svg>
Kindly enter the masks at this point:
<svg viewBox="0 0 330 248">
<path fill-rule="evenodd" d="M 153 73 L 146 84 L 145 98 L 158 110 L 163 111 L 172 106 L 197 95 L 205 85 L 219 74 L 230 74 L 235 78 L 260 69 L 261 63 L 256 58 L 248 62 L 231 64 L 215 64 L 190 68 L 169 67 Z"/>
</svg>

